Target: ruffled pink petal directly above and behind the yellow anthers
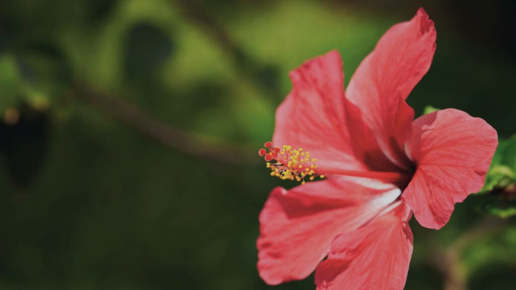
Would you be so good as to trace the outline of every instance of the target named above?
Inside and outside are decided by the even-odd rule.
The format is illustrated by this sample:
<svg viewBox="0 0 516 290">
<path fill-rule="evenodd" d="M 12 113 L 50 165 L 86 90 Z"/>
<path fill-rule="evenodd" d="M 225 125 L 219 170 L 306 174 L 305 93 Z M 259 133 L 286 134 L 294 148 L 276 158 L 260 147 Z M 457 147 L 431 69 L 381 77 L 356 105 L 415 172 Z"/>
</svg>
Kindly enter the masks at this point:
<svg viewBox="0 0 516 290">
<path fill-rule="evenodd" d="M 290 77 L 293 89 L 276 111 L 274 145 L 308 150 L 327 168 L 363 168 L 353 155 L 346 127 L 338 52 L 303 63 Z"/>
</svg>

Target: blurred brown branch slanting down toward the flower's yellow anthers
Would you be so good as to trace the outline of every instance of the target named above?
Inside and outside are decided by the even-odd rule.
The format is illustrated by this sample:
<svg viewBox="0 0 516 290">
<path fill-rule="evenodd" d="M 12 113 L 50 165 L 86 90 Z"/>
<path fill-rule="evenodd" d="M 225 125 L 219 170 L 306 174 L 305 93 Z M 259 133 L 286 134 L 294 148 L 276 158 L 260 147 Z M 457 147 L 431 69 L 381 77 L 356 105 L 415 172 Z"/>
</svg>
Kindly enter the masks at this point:
<svg viewBox="0 0 516 290">
<path fill-rule="evenodd" d="M 131 103 L 94 90 L 85 84 L 76 84 L 74 93 L 78 98 L 101 108 L 110 117 L 175 150 L 230 164 L 250 164 L 260 159 L 256 156 L 257 151 L 215 137 L 180 130 Z"/>
</svg>

